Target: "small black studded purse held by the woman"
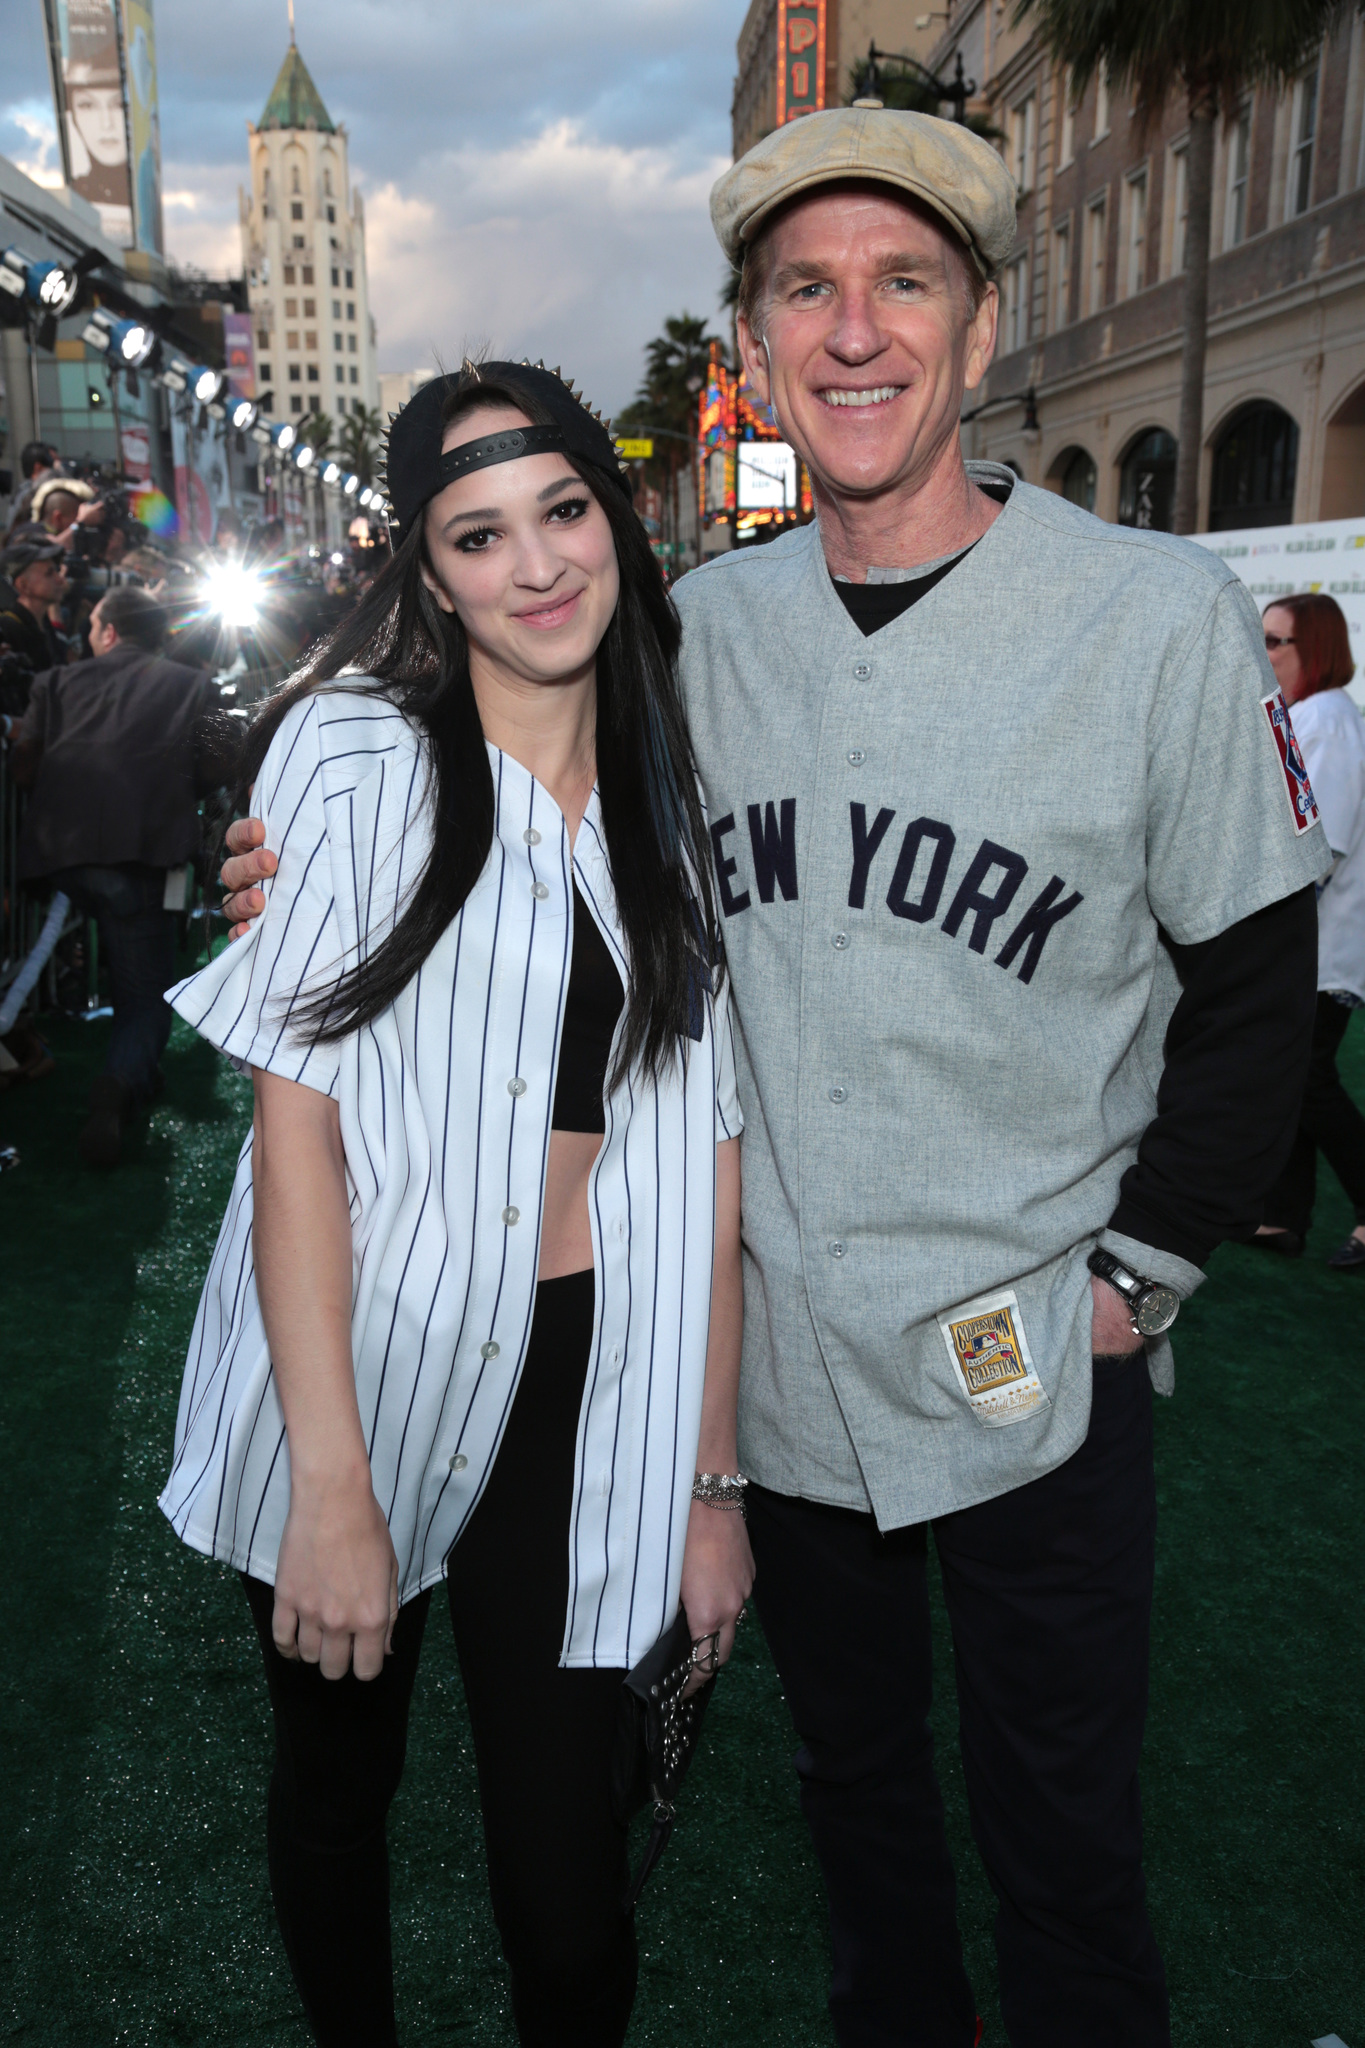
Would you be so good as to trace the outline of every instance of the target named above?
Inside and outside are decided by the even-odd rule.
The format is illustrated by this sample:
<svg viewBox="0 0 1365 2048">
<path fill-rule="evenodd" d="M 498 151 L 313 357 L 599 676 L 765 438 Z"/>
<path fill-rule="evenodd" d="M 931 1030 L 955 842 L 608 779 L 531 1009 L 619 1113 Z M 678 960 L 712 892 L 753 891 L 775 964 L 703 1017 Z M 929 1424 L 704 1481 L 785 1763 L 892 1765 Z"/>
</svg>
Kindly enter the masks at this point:
<svg viewBox="0 0 1365 2048">
<path fill-rule="evenodd" d="M 653 1651 L 626 1673 L 620 1690 L 616 1751 L 612 1755 L 612 1815 L 626 1827 L 653 1800 L 655 1825 L 649 1831 L 641 1868 L 626 1892 L 626 1913 L 645 1888 L 645 1878 L 669 1845 L 673 1833 L 677 1788 L 688 1776 L 692 1751 L 702 1729 L 702 1714 L 712 1696 L 714 1679 L 684 1700 L 692 1673 L 692 1630 L 679 1608 Z"/>
</svg>

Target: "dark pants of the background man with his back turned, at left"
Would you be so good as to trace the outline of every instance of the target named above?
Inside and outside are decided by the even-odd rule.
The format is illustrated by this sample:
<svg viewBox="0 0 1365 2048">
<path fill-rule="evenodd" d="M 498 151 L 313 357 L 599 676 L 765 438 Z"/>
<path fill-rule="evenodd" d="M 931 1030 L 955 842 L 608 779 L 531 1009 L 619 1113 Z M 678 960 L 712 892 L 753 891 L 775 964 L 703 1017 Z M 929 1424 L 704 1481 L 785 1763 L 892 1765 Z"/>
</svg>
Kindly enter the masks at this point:
<svg viewBox="0 0 1365 2048">
<path fill-rule="evenodd" d="M 94 918 L 100 934 L 115 1008 L 104 1073 L 125 1081 L 135 1102 L 149 1102 L 170 1038 L 164 991 L 176 979 L 176 915 L 162 909 L 166 870 L 129 860 L 117 868 L 63 868 L 47 879 Z"/>
</svg>

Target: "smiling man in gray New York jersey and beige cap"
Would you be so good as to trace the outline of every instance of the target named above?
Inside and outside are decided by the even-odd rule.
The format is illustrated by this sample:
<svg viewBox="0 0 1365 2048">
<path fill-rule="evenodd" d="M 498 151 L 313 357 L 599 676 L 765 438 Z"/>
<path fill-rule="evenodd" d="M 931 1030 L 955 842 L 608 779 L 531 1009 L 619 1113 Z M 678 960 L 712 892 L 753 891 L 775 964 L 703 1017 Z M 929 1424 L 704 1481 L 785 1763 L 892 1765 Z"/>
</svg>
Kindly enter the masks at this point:
<svg viewBox="0 0 1365 2048">
<path fill-rule="evenodd" d="M 1152 1384 L 1289 1147 L 1328 854 L 1224 565 L 962 461 L 1015 236 L 995 152 L 810 115 L 712 217 L 819 514 L 677 606 L 747 1116 L 741 1458 L 835 2034 L 976 2030 L 933 1522 L 1009 2038 L 1156 2048 Z"/>
</svg>

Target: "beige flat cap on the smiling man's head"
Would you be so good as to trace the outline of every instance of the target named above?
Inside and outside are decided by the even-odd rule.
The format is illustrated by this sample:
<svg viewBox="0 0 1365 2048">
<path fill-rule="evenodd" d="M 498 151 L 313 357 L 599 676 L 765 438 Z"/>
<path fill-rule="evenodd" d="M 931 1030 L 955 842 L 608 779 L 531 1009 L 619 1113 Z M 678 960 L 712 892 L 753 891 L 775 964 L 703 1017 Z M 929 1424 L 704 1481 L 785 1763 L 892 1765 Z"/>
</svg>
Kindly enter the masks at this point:
<svg viewBox="0 0 1365 2048">
<path fill-rule="evenodd" d="M 872 178 L 933 207 L 986 274 L 1015 246 L 1015 180 L 980 135 L 892 106 L 829 106 L 774 129 L 716 180 L 710 219 L 720 248 L 739 264 L 776 207 L 837 178 Z"/>
</svg>

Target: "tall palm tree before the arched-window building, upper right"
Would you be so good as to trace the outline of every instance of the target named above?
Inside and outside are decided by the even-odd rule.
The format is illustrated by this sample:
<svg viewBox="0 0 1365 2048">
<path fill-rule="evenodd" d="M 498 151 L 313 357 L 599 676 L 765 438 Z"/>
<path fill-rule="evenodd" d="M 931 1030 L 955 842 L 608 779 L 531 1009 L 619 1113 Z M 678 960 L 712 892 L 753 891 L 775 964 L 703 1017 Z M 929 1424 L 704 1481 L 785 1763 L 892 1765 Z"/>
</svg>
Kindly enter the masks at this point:
<svg viewBox="0 0 1365 2048">
<path fill-rule="evenodd" d="M 1015 25 L 1031 16 L 1048 55 L 1070 66 L 1076 96 L 1103 68 L 1113 84 L 1134 90 L 1144 127 L 1177 92 L 1189 106 L 1177 532 L 1193 532 L 1199 520 L 1214 125 L 1220 113 L 1232 115 L 1250 86 L 1283 88 L 1338 12 L 1340 0 L 1017 0 L 1015 6 Z"/>
</svg>

